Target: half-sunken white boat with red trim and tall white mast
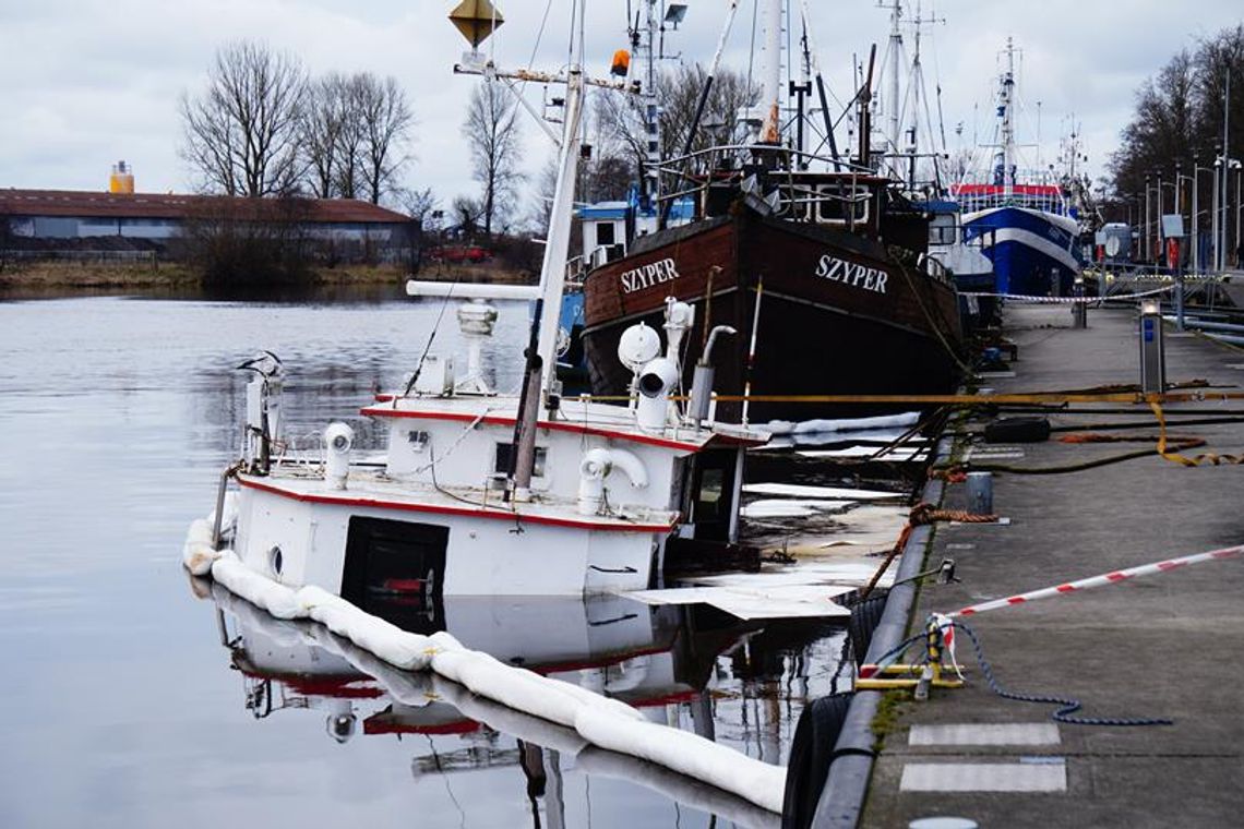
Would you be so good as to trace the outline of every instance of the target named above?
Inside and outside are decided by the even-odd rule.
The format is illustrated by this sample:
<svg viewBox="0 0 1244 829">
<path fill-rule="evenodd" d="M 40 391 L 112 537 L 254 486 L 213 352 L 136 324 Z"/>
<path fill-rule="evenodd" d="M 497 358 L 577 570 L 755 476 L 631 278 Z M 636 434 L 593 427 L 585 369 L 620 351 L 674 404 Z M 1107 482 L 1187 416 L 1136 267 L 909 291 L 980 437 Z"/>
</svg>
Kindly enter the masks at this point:
<svg viewBox="0 0 1244 829">
<path fill-rule="evenodd" d="M 565 123 L 575 124 L 583 78 L 572 71 L 566 81 Z M 736 539 L 744 450 L 768 434 L 712 418 L 713 344 L 733 329 L 671 300 L 664 346 L 644 324 L 620 342 L 633 375 L 628 401 L 561 395 L 557 308 L 578 142 L 566 129 L 521 392 L 498 394 L 483 379 L 496 309 L 475 293 L 458 309 L 470 344 L 464 377 L 452 358 L 425 355 L 404 389 L 362 408 L 384 425 L 382 460 L 356 452 L 345 423 L 326 424 L 307 456 L 286 450 L 282 367 L 260 355 L 245 364 L 254 377 L 243 459 L 221 479 L 213 551 L 230 543 L 276 583 L 379 610 L 444 595 L 644 589 L 658 584 L 671 543 Z M 455 297 L 471 296 L 457 287 Z M 687 336 L 704 342 L 689 399 L 679 388 Z M 230 479 L 235 500 L 225 497 Z"/>
</svg>

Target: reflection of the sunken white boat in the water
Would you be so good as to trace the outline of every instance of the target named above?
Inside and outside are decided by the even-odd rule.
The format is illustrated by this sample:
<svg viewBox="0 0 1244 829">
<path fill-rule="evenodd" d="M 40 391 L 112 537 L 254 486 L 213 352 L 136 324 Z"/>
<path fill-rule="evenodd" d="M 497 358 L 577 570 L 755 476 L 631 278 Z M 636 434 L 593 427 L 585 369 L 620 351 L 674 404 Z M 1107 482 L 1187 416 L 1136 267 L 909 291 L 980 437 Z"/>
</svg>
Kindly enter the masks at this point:
<svg viewBox="0 0 1244 829">
<path fill-rule="evenodd" d="M 741 827 L 780 824 L 780 815 L 746 800 L 590 746 L 572 730 L 435 674 L 398 670 L 322 625 L 276 619 L 208 580 L 195 579 L 194 588 L 216 604 L 221 643 L 244 676 L 245 705 L 255 718 L 307 716 L 338 743 L 360 733 L 418 735 L 425 742 L 415 743 L 423 747 L 411 766 L 415 779 L 514 767 L 525 777 L 537 827 L 565 825 L 565 776 L 576 772 L 638 783 L 678 807 Z M 785 762 L 804 702 L 836 681 L 845 641 L 840 628 L 822 621 L 743 623 L 707 607 L 649 607 L 613 595 L 445 597 L 437 613 L 443 615 L 419 626 L 449 630 L 468 648 L 770 763 Z M 816 676 L 807 675 L 812 665 Z M 473 803 L 460 803 L 468 815 Z M 571 810 L 580 808 L 591 803 Z"/>
</svg>

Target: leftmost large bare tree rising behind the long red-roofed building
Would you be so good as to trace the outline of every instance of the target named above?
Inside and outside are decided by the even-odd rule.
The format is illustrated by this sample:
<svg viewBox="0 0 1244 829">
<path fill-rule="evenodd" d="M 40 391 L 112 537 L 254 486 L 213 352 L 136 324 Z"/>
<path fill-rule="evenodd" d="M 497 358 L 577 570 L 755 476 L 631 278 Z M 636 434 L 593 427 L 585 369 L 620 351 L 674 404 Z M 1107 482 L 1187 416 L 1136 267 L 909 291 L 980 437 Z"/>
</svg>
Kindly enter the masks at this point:
<svg viewBox="0 0 1244 829">
<path fill-rule="evenodd" d="M 301 174 L 301 62 L 240 41 L 216 51 L 208 88 L 182 96 L 183 158 L 208 190 L 264 196 L 289 193 Z"/>
</svg>

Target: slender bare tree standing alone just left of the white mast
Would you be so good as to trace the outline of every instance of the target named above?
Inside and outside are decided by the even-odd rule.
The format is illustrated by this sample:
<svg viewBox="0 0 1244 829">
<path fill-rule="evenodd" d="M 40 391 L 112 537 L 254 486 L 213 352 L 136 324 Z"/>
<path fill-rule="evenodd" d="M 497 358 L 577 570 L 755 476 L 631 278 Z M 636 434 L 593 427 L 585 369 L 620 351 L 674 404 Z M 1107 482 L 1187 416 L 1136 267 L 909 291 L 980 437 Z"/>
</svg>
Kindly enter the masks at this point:
<svg viewBox="0 0 1244 829">
<path fill-rule="evenodd" d="M 470 148 L 471 178 L 483 188 L 480 211 L 484 234 L 493 235 L 493 225 L 508 214 L 515 200 L 515 189 L 524 175 L 519 165 L 519 124 L 516 104 L 496 81 L 485 82 L 471 93 L 463 137 Z M 457 209 L 457 203 L 455 203 Z"/>
</svg>

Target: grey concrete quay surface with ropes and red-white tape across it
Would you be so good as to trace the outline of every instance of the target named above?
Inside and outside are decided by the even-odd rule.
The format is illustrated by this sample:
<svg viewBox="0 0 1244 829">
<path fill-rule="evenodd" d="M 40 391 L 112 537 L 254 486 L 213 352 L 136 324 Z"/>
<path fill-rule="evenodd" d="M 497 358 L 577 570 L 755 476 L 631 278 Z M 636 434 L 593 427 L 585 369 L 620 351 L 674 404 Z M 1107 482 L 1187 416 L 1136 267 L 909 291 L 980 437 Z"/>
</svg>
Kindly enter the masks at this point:
<svg viewBox="0 0 1244 829">
<path fill-rule="evenodd" d="M 996 393 L 1140 380 L 1136 309 L 1090 308 L 1088 328 L 1074 329 L 1067 306 L 1010 306 L 1004 333 L 1018 344 L 1019 359 L 1014 377 L 984 380 Z M 1169 327 L 1166 365 L 1168 384 L 1244 383 L 1244 352 Z M 1168 408 L 1186 413 L 1172 414 L 1177 421 L 1242 411 L 1244 401 Z M 1157 435 L 1147 406 L 1050 420 L 1075 431 L 1135 421 L 1133 429 L 1103 434 Z M 965 426 L 979 430 L 984 423 Z M 1189 456 L 1244 451 L 1244 424 L 1176 423 L 1171 433 L 1208 441 L 1187 450 Z M 1061 466 L 1146 445 L 1059 442 L 1065 434 L 1001 452 L 985 446 L 995 460 L 978 452 L 975 461 Z M 979 439 L 973 445 L 984 446 Z M 993 485 L 994 512 L 1009 523 L 937 526 L 927 567 L 952 558 L 962 582 L 921 590 L 913 631 L 931 611 L 1244 543 L 1239 465 L 1187 469 L 1154 454 L 1071 474 L 995 472 Z M 963 508 L 965 488 L 948 486 L 943 507 Z M 903 697 L 897 722 L 886 728 L 860 825 L 907 827 L 935 815 L 1009 828 L 1244 825 L 1244 558 L 967 621 L 1009 691 L 1075 697 L 1084 703 L 1076 716 L 1169 717 L 1174 725 L 1055 722 L 1055 705 L 995 695 L 960 634 L 957 655 L 969 685 L 934 689 L 927 702 L 909 701 L 909 692 Z"/>
</svg>

